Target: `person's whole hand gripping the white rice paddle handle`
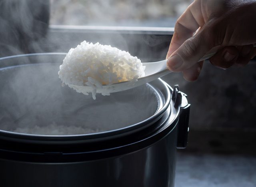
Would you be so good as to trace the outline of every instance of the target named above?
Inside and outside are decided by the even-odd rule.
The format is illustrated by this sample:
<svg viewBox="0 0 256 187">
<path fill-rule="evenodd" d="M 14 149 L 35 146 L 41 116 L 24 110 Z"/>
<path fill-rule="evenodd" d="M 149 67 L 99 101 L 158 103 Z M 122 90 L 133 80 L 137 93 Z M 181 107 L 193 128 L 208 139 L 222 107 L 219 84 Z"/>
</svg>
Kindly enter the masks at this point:
<svg viewBox="0 0 256 187">
<path fill-rule="evenodd" d="M 198 78 L 208 51 L 211 64 L 245 66 L 256 56 L 256 0 L 195 0 L 178 18 L 166 56 L 167 67 L 188 81 Z"/>
</svg>

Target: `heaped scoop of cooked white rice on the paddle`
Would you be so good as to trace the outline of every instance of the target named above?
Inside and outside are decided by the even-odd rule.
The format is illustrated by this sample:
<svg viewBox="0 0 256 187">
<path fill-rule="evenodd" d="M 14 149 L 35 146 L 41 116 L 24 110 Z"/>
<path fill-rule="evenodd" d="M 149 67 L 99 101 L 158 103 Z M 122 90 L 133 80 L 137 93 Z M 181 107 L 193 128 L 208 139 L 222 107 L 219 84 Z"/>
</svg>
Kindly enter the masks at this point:
<svg viewBox="0 0 256 187">
<path fill-rule="evenodd" d="M 144 70 L 140 59 L 126 51 L 84 41 L 69 50 L 58 74 L 62 85 L 86 95 L 92 92 L 93 99 L 96 99 L 96 93 L 110 95 L 114 83 L 137 81 L 145 76 Z"/>
</svg>

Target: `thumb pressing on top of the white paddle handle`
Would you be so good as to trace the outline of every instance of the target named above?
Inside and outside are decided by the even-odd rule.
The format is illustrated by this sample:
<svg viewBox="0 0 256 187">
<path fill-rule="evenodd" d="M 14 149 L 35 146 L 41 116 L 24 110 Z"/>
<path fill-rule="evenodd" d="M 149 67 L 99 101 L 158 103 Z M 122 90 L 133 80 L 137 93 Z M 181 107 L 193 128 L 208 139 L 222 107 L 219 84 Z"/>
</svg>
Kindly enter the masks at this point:
<svg viewBox="0 0 256 187">
<path fill-rule="evenodd" d="M 186 40 L 167 60 L 167 67 L 173 72 L 181 72 L 196 64 L 211 48 L 214 40 L 209 29 L 202 29 L 198 34 Z"/>
</svg>

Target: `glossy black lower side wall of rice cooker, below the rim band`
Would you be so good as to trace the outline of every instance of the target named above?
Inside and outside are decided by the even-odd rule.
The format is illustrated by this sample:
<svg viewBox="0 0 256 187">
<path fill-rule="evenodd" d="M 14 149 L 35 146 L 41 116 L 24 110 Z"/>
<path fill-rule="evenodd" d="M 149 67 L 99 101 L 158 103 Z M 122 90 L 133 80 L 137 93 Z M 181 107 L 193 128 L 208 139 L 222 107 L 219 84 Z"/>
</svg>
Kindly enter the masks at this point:
<svg viewBox="0 0 256 187">
<path fill-rule="evenodd" d="M 176 134 L 175 128 L 150 147 L 87 162 L 42 164 L 0 159 L 1 184 L 4 187 L 173 187 Z"/>
</svg>

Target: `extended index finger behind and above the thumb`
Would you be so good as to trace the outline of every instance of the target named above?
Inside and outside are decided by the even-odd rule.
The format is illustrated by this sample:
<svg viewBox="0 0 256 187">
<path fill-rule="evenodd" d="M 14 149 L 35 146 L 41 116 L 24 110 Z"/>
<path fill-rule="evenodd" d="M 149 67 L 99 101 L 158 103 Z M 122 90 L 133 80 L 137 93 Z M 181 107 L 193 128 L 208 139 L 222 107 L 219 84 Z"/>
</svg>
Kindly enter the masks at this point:
<svg viewBox="0 0 256 187">
<path fill-rule="evenodd" d="M 177 20 L 166 59 L 171 56 L 199 27 L 204 25 L 200 1 L 196 0 Z"/>
</svg>

